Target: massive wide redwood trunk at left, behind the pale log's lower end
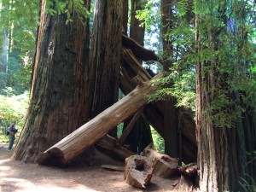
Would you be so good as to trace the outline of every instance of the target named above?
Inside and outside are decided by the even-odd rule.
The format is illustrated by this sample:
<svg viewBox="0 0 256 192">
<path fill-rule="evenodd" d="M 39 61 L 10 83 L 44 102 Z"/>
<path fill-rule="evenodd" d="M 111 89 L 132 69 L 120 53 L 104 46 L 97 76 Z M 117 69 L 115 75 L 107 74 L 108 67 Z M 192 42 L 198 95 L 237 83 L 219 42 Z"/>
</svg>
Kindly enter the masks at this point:
<svg viewBox="0 0 256 192">
<path fill-rule="evenodd" d="M 84 26 L 73 13 L 73 22 L 66 24 L 65 15 L 47 14 L 45 3 L 41 0 L 30 106 L 14 154 L 15 160 L 26 162 L 36 162 L 38 154 L 88 120 L 84 115 L 88 20 Z M 84 4 L 90 9 L 90 0 Z"/>
</svg>

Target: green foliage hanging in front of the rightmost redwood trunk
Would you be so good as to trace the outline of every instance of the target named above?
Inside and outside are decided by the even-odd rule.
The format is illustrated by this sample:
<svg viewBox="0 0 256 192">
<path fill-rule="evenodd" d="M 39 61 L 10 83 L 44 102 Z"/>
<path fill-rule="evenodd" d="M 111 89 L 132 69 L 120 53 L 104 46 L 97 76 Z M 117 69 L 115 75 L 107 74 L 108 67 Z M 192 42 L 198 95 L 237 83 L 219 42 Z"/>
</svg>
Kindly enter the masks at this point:
<svg viewBox="0 0 256 192">
<path fill-rule="evenodd" d="M 256 55 L 255 44 L 247 35 L 252 33 L 252 23 L 244 4 L 232 4 L 229 9 L 226 6 L 213 3 L 206 10 L 196 7 L 201 20 L 197 27 L 201 49 L 196 56 L 203 65 L 201 76 L 207 79 L 204 86 L 208 90 L 204 89 L 210 105 L 203 112 L 212 114 L 215 126 L 231 127 L 247 106 L 255 106 L 256 87 L 250 71 Z M 244 15 L 238 16 L 241 12 Z"/>
</svg>

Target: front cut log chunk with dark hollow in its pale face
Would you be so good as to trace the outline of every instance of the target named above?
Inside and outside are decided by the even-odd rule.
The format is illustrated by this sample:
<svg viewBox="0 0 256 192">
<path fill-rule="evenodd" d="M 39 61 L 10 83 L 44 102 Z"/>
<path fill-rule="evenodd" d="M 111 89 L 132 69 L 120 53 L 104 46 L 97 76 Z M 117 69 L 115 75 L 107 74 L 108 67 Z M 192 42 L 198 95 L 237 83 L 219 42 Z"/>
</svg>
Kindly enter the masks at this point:
<svg viewBox="0 0 256 192">
<path fill-rule="evenodd" d="M 151 180 L 153 163 L 147 157 L 131 155 L 125 159 L 126 183 L 137 188 L 145 188 Z"/>
</svg>

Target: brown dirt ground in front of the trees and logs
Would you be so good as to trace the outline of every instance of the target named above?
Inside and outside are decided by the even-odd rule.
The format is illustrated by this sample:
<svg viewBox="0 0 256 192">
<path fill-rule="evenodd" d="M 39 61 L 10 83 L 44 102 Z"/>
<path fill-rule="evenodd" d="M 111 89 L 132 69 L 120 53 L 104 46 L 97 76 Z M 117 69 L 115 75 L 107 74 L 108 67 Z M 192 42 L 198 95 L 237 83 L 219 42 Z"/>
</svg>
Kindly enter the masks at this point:
<svg viewBox="0 0 256 192">
<path fill-rule="evenodd" d="M 125 183 L 124 172 L 113 172 L 102 168 L 103 164 L 125 166 L 106 154 L 96 152 L 90 166 L 76 163 L 67 168 L 38 166 L 12 160 L 13 152 L 0 146 L 0 191 L 1 192 L 77 192 L 77 191 L 172 191 L 177 179 L 153 176 L 146 189 L 136 189 Z"/>
</svg>

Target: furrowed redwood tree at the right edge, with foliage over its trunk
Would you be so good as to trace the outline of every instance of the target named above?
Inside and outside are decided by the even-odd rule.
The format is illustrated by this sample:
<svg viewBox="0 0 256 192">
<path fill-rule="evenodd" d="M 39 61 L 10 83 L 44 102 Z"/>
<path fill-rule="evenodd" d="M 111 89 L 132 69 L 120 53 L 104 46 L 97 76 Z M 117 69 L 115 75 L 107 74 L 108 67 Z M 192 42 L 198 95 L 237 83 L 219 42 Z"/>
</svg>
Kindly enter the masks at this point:
<svg viewBox="0 0 256 192">
<path fill-rule="evenodd" d="M 244 65 L 253 63 L 253 57 L 243 52 L 250 44 L 249 28 L 245 18 L 236 15 L 242 13 L 244 17 L 247 6 L 230 6 L 212 2 L 207 7 L 201 2 L 195 7 L 196 134 L 201 191 L 241 191 L 241 177 L 246 179 L 246 173 L 253 176 L 256 171 L 251 158 L 255 150 L 255 103 L 247 97 L 253 88 L 247 77 L 250 65 Z M 236 11 L 230 12 L 233 9 Z"/>
</svg>

